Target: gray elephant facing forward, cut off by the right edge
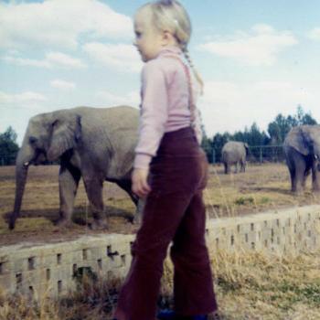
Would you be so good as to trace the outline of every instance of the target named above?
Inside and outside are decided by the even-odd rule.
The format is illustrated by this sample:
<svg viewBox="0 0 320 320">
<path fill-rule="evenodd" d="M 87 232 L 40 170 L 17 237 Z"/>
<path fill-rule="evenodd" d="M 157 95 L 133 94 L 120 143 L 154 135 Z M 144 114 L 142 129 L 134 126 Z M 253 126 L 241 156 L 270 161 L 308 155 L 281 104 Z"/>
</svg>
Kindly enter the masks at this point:
<svg viewBox="0 0 320 320">
<path fill-rule="evenodd" d="M 314 191 L 320 191 L 320 125 L 294 127 L 285 137 L 283 150 L 291 177 L 291 190 L 301 193 L 312 172 Z"/>
</svg>

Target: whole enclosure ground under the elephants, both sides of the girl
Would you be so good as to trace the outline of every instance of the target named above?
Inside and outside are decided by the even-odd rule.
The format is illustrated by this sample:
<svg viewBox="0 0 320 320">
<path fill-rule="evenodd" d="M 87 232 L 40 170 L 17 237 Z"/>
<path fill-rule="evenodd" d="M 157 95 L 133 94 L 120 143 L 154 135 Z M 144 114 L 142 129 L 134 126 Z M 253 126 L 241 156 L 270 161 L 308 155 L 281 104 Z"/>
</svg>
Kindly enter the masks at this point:
<svg viewBox="0 0 320 320">
<path fill-rule="evenodd" d="M 0 166 L 0 245 L 69 240 L 101 233 L 88 227 L 91 214 L 82 182 L 75 201 L 73 226 L 59 229 L 55 225 L 59 216 L 58 172 L 58 165 L 29 168 L 21 218 L 16 221 L 16 229 L 11 231 L 7 228 L 6 216 L 14 205 L 15 167 Z M 130 219 L 135 207 L 126 193 L 106 182 L 103 198 L 109 226 L 105 232 L 134 233 L 138 226 Z M 283 164 L 248 165 L 246 173 L 229 176 L 223 174 L 222 166 L 211 165 L 204 198 L 210 218 L 320 203 L 320 197 L 311 192 L 310 181 L 304 195 L 297 197 L 290 192 L 289 174 Z"/>
</svg>

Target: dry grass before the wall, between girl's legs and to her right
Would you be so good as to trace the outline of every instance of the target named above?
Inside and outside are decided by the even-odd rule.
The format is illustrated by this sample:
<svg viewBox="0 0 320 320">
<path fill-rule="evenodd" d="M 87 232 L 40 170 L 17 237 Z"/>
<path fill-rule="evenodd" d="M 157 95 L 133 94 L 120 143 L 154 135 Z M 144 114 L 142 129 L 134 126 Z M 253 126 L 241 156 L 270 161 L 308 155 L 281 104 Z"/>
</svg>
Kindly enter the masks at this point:
<svg viewBox="0 0 320 320">
<path fill-rule="evenodd" d="M 221 320 L 320 319 L 320 254 L 298 257 L 266 252 L 219 251 L 212 260 Z M 163 300 L 172 306 L 172 265 L 163 278 Z"/>
</svg>

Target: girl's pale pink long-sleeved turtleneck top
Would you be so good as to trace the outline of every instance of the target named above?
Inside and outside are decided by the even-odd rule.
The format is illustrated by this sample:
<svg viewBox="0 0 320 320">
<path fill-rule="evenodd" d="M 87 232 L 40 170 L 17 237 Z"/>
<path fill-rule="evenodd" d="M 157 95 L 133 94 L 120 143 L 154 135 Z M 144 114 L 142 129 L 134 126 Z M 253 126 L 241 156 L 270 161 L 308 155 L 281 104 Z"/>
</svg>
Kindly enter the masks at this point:
<svg viewBox="0 0 320 320">
<path fill-rule="evenodd" d="M 200 143 L 198 112 L 195 110 L 194 114 L 191 114 L 189 107 L 186 67 L 177 60 L 182 61 L 181 55 L 180 48 L 166 47 L 155 59 L 144 64 L 139 140 L 133 163 L 135 168 L 148 168 L 165 133 L 194 124 Z M 196 91 L 192 90 L 192 96 L 195 97 Z M 192 118 L 195 119 L 193 123 Z"/>
</svg>

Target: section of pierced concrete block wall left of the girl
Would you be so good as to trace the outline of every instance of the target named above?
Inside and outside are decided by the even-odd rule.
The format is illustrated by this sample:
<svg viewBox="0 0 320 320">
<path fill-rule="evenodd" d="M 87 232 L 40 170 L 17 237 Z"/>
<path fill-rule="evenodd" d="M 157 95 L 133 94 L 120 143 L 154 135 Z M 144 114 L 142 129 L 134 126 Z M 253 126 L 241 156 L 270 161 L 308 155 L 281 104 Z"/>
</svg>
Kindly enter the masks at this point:
<svg viewBox="0 0 320 320">
<path fill-rule="evenodd" d="M 81 237 L 52 244 L 0 249 L 0 287 L 5 293 L 56 297 L 75 289 L 73 275 L 91 268 L 105 278 L 123 277 L 131 262 L 133 235 Z"/>
</svg>

